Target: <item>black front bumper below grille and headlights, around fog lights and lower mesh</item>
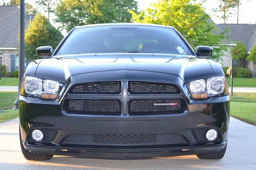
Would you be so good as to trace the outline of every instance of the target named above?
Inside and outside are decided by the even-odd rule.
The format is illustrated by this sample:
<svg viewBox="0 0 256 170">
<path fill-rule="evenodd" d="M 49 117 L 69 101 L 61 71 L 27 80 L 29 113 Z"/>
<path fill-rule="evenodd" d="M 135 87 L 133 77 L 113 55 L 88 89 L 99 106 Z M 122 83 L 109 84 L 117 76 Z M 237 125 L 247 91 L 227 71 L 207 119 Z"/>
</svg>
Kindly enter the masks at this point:
<svg viewBox="0 0 256 170">
<path fill-rule="evenodd" d="M 33 153 L 68 155 L 91 158 L 136 159 L 160 156 L 194 155 L 218 152 L 227 141 L 229 101 L 217 104 L 188 105 L 190 111 L 183 115 L 156 117 L 77 117 L 57 114 L 59 105 L 32 104 L 20 101 L 20 132 L 25 149 Z M 209 112 L 203 111 L 211 108 Z M 22 108 L 26 108 L 23 110 Z M 34 110 L 40 116 L 29 114 Z M 218 111 L 217 111 L 218 110 Z M 26 111 L 26 114 L 25 112 Z M 219 140 L 200 141 L 196 130 L 217 129 Z M 31 142 L 34 129 L 54 131 L 45 142 Z M 162 145 L 81 145 L 64 144 L 65 138 L 74 134 L 137 135 L 176 134 L 185 143 Z M 202 137 L 202 136 L 201 136 Z"/>
</svg>

